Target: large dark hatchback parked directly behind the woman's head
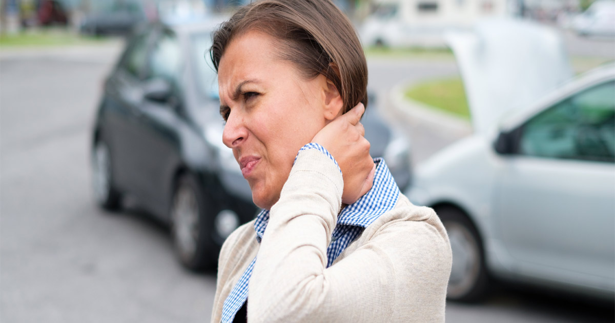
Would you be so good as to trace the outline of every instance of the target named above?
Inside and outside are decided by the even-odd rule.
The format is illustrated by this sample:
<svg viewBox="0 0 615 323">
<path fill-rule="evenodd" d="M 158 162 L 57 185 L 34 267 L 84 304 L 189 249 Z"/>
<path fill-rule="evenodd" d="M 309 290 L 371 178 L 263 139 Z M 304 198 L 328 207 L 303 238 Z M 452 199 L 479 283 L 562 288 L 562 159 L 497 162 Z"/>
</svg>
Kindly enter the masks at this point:
<svg viewBox="0 0 615 323">
<path fill-rule="evenodd" d="M 222 142 L 216 74 L 205 57 L 218 22 L 153 23 L 137 31 L 106 79 L 93 127 L 98 203 L 116 210 L 122 197 L 135 197 L 170 225 L 178 258 L 191 269 L 213 265 L 224 239 L 258 211 Z M 384 156 L 407 186 L 407 142 L 377 110 L 367 111 L 373 156 Z"/>
</svg>

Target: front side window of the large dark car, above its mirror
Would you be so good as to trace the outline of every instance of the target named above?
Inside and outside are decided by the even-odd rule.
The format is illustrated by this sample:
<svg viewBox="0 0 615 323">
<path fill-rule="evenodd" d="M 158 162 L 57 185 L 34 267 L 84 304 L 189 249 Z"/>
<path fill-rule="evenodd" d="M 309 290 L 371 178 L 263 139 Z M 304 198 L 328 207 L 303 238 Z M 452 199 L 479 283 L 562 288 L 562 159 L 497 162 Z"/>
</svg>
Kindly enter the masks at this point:
<svg viewBox="0 0 615 323">
<path fill-rule="evenodd" d="M 170 31 L 162 33 L 151 52 L 149 78 L 164 78 L 179 84 L 181 68 L 180 44 Z"/>
</svg>

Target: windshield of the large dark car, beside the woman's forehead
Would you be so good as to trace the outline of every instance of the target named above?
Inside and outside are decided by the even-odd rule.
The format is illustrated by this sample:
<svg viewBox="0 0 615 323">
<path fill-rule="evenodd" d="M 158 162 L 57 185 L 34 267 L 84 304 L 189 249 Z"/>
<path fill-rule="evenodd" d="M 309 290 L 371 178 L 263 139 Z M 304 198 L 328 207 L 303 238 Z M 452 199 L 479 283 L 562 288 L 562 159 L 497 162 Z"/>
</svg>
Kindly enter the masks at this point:
<svg viewBox="0 0 615 323">
<path fill-rule="evenodd" d="M 209 47 L 212 46 L 211 33 L 193 34 L 191 39 L 191 57 L 196 66 L 196 84 L 201 95 L 218 100 L 218 74 L 209 58 Z"/>
</svg>

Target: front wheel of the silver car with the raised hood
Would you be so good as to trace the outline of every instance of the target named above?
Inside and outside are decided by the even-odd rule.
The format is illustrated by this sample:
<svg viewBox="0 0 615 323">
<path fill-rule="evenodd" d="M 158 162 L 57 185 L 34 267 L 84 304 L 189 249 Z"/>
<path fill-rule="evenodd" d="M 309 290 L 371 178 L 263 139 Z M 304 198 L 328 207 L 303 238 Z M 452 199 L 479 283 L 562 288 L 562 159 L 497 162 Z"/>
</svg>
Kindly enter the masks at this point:
<svg viewBox="0 0 615 323">
<path fill-rule="evenodd" d="M 453 251 L 446 298 L 478 301 L 485 296 L 488 285 L 483 244 L 478 231 L 459 209 L 441 207 L 436 211 L 446 228 Z"/>
</svg>

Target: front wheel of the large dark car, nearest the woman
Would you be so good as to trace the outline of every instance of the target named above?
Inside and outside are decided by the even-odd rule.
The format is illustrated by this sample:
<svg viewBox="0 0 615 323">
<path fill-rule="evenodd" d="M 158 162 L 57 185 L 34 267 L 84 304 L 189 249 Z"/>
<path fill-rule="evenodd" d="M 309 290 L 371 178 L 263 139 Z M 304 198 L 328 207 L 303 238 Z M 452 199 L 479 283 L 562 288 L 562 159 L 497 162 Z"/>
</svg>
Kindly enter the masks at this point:
<svg viewBox="0 0 615 323">
<path fill-rule="evenodd" d="M 173 244 L 182 265 L 191 270 L 214 265 L 211 205 L 194 176 L 182 175 L 172 197 Z"/>
</svg>

